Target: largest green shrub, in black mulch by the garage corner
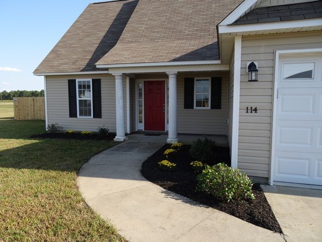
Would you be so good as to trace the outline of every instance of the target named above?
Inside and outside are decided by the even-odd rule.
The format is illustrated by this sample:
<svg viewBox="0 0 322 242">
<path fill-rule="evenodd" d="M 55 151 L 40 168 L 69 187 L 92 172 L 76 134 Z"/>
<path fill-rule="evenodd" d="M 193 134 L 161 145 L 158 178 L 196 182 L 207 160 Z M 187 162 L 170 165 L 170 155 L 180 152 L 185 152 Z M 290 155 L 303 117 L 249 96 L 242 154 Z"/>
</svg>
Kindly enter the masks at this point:
<svg viewBox="0 0 322 242">
<path fill-rule="evenodd" d="M 255 199 L 251 179 L 239 169 L 233 169 L 224 163 L 206 165 L 197 176 L 197 181 L 198 191 L 211 194 L 220 200 Z"/>
</svg>

